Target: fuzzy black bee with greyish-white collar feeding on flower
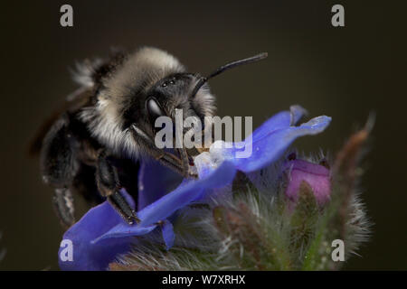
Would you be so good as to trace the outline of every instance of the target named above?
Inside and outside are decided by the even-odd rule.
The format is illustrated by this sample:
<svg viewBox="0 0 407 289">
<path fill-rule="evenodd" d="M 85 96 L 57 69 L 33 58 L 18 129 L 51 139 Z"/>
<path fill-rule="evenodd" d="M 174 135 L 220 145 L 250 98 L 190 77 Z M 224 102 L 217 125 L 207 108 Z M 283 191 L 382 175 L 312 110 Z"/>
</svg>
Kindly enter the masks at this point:
<svg viewBox="0 0 407 289">
<path fill-rule="evenodd" d="M 108 200 L 128 224 L 138 222 L 120 190 L 137 200 L 135 176 L 146 158 L 194 177 L 194 153 L 156 147 L 156 118 L 174 119 L 175 109 L 182 109 L 184 117 L 213 116 L 208 79 L 265 57 L 233 61 L 208 77 L 186 72 L 174 56 L 151 47 L 80 64 L 74 75 L 80 89 L 44 123 L 31 147 L 32 154 L 40 154 L 43 181 L 54 188 L 52 204 L 62 226 L 75 222 L 73 192 L 96 203 Z"/>
</svg>

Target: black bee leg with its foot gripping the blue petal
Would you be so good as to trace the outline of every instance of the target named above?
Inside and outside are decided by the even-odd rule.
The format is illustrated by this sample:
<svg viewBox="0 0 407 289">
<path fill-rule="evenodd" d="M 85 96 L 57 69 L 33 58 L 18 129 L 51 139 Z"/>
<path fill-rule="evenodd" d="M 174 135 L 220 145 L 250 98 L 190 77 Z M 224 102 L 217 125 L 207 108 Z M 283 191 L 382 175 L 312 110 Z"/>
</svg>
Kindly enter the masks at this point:
<svg viewBox="0 0 407 289">
<path fill-rule="evenodd" d="M 136 211 L 130 207 L 128 201 L 119 191 L 118 170 L 109 161 L 109 157 L 104 152 L 99 154 L 96 182 L 100 194 L 108 198 L 109 203 L 128 224 L 132 225 L 135 221 L 139 222 Z"/>
</svg>

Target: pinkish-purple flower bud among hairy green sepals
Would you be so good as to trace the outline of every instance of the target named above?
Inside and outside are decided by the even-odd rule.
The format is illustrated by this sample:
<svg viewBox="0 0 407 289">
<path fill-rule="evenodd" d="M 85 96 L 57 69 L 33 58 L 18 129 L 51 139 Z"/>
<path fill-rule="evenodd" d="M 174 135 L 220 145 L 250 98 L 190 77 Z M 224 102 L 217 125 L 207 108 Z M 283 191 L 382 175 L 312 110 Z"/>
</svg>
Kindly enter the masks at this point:
<svg viewBox="0 0 407 289">
<path fill-rule="evenodd" d="M 308 183 L 319 206 L 330 200 L 331 180 L 327 167 L 294 159 L 284 163 L 283 172 L 288 176 L 286 196 L 294 203 L 298 200 L 298 191 L 302 182 Z"/>
</svg>

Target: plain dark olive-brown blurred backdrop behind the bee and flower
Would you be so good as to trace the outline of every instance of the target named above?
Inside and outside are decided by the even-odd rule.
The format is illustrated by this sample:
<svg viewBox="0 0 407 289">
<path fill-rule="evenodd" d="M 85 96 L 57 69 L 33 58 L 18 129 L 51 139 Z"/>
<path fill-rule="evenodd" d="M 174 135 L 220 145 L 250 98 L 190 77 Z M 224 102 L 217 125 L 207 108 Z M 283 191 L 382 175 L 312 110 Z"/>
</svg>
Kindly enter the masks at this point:
<svg viewBox="0 0 407 289">
<path fill-rule="evenodd" d="M 335 153 L 369 112 L 376 113 L 360 187 L 373 237 L 346 269 L 406 269 L 406 7 L 390 1 L 65 1 L 1 7 L 1 269 L 58 269 L 62 229 L 38 160 L 26 154 L 35 129 L 76 85 L 75 61 L 110 47 L 153 45 L 191 71 L 268 51 L 269 58 L 213 79 L 219 115 L 253 116 L 255 126 L 292 104 L 333 117 L 322 135 L 298 140 L 305 152 Z M 345 5 L 345 28 L 330 23 Z"/>
</svg>

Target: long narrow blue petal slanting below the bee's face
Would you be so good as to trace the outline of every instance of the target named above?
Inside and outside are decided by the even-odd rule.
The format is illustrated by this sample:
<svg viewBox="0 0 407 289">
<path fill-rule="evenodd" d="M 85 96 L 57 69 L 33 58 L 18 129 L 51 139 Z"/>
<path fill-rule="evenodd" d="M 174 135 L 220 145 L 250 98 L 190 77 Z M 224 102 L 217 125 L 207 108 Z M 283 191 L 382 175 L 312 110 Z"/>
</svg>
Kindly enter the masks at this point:
<svg viewBox="0 0 407 289">
<path fill-rule="evenodd" d="M 141 220 L 139 224 L 130 226 L 124 222 L 100 236 L 96 241 L 105 238 L 118 238 L 131 235 L 139 235 L 141 228 L 156 225 L 156 222 L 170 217 L 175 210 L 184 208 L 194 200 L 204 196 L 206 190 L 215 189 L 231 183 L 236 169 L 230 162 L 224 162 L 215 171 L 207 174 L 203 179 L 183 182 L 175 191 L 171 191 L 156 202 L 138 211 L 137 216 Z"/>
</svg>

